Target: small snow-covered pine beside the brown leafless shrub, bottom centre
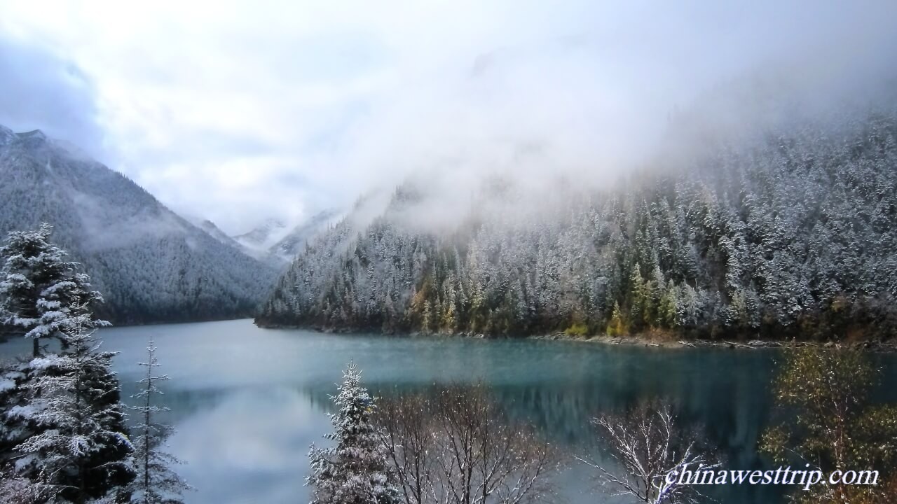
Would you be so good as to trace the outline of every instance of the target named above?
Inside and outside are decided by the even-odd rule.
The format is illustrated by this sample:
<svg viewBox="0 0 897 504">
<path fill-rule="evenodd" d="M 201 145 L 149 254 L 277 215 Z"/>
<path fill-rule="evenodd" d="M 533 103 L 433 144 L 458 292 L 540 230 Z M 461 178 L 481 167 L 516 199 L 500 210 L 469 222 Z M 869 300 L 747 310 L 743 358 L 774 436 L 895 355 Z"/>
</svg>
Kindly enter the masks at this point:
<svg viewBox="0 0 897 504">
<path fill-rule="evenodd" d="M 374 401 L 361 387 L 361 371 L 349 364 L 343 372 L 330 414 L 334 431 L 325 436 L 333 448 L 311 447 L 312 504 L 392 504 L 398 502 L 388 449 L 373 423 Z"/>
</svg>

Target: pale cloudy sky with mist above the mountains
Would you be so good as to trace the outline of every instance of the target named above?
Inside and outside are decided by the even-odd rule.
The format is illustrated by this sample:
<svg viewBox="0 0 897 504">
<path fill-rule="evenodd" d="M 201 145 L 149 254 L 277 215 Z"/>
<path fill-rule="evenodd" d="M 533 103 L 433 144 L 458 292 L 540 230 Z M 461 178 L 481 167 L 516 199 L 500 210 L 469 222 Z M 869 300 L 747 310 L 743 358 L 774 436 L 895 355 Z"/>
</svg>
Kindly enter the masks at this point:
<svg viewBox="0 0 897 504">
<path fill-rule="evenodd" d="M 0 0 L 0 124 L 238 234 L 419 169 L 605 180 L 718 83 L 893 60 L 893 19 L 888 0 Z"/>
</svg>

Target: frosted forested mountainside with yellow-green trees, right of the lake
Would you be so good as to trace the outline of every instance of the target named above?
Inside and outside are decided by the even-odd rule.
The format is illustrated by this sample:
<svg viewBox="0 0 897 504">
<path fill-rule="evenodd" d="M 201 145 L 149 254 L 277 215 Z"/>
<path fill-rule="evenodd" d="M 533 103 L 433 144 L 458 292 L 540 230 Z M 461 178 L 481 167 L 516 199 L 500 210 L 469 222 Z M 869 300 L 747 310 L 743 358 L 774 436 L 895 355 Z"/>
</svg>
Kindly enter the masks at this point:
<svg viewBox="0 0 897 504">
<path fill-rule="evenodd" d="M 851 117 L 718 143 L 603 191 L 546 186 L 566 201 L 552 210 L 493 184 L 451 233 L 403 223 L 421 194 L 406 184 L 369 225 L 346 219 L 298 256 L 257 324 L 897 335 L 897 113 Z M 519 211 L 478 210 L 483 198 Z"/>
</svg>

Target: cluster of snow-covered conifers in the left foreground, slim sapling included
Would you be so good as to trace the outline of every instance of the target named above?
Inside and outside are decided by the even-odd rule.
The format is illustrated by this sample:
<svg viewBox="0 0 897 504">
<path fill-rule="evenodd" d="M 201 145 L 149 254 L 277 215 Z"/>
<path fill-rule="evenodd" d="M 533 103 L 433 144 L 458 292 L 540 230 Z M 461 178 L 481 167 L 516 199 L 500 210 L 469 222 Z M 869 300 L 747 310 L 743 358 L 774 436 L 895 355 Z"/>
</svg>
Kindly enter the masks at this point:
<svg viewBox="0 0 897 504">
<path fill-rule="evenodd" d="M 156 420 L 158 384 L 168 378 L 156 374 L 154 343 L 128 429 L 116 352 L 95 335 L 109 326 L 94 316 L 102 297 L 51 230 L 13 231 L 0 247 L 3 323 L 33 342 L 29 359 L 0 365 L 0 501 L 179 504 L 189 486 L 162 450 L 171 430 Z"/>
</svg>

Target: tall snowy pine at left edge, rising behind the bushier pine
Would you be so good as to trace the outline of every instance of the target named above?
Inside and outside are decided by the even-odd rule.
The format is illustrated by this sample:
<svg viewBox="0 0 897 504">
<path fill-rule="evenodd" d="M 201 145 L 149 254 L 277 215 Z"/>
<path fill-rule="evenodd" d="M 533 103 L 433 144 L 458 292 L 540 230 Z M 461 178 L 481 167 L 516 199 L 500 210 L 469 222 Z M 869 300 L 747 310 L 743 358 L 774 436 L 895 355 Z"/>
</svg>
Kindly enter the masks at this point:
<svg viewBox="0 0 897 504">
<path fill-rule="evenodd" d="M 65 250 L 49 241 L 52 231 L 47 223 L 36 231 L 12 231 L 0 247 L 4 260 L 0 271 L 0 323 L 20 327 L 22 335 L 34 342 L 34 357 L 40 355 L 41 339 L 60 335 L 72 323 L 69 310 L 75 297 L 84 309 L 102 301 L 99 292 L 90 291 L 90 277 L 76 273 L 78 263 L 66 261 Z M 83 324 L 109 325 L 92 317 Z"/>
</svg>

